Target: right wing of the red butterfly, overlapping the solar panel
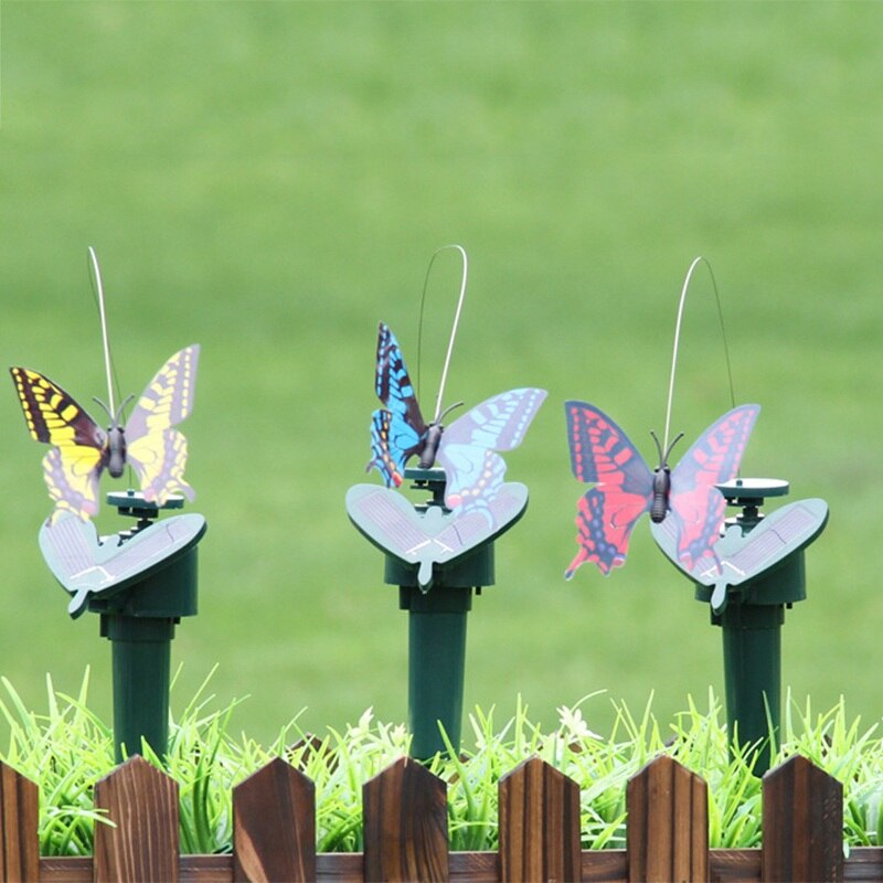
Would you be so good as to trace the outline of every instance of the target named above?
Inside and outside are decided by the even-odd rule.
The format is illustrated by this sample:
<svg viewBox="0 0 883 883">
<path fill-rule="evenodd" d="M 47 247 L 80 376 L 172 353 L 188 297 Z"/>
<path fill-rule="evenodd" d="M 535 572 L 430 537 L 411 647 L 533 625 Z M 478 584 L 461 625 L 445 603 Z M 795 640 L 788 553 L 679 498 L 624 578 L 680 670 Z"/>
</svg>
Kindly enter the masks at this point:
<svg viewBox="0 0 883 883">
<path fill-rule="evenodd" d="M 678 556 L 688 571 L 713 556 L 726 501 L 715 485 L 738 472 L 758 405 L 742 405 L 715 421 L 671 471 L 670 517 L 674 520 Z"/>
</svg>

